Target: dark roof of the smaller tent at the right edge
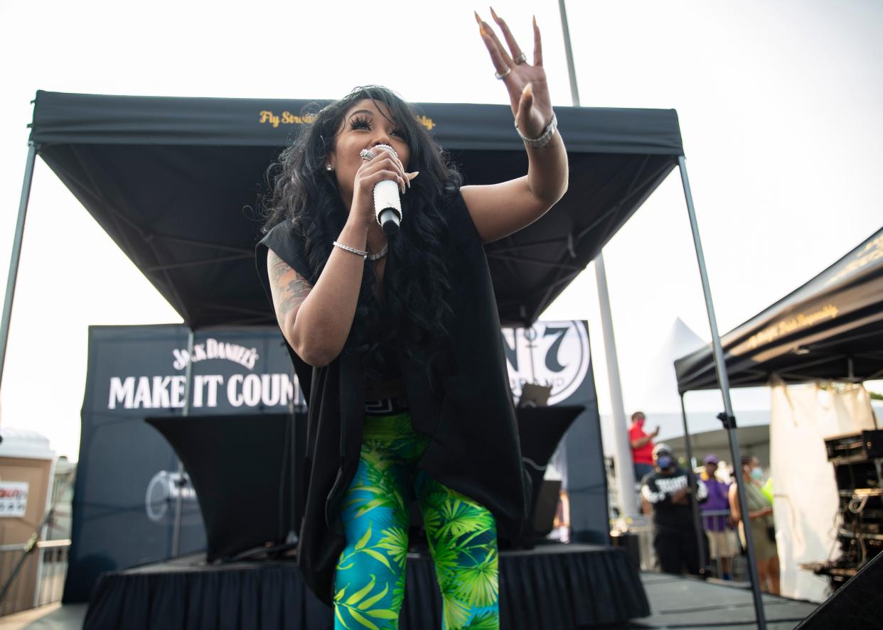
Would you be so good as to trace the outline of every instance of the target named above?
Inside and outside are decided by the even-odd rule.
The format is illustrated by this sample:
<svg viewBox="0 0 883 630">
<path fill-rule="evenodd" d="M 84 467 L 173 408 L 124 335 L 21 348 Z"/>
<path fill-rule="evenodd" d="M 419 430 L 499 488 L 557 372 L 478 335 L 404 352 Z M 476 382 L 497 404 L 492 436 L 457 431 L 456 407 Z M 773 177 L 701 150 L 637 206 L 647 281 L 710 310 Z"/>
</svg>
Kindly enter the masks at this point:
<svg viewBox="0 0 883 630">
<path fill-rule="evenodd" d="M 883 376 L 883 228 L 721 337 L 730 386 Z M 710 346 L 675 361 L 678 390 L 718 386 Z"/>
</svg>

